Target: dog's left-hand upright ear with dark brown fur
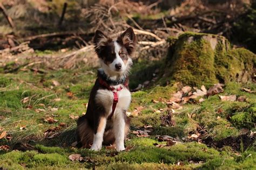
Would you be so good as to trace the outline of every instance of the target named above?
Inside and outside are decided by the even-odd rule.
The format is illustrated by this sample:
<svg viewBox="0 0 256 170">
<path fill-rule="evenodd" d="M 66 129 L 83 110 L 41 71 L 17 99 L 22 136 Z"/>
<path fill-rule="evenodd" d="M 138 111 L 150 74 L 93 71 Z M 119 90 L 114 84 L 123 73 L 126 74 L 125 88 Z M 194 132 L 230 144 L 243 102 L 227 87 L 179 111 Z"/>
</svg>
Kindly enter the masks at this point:
<svg viewBox="0 0 256 170">
<path fill-rule="evenodd" d="M 99 55 L 102 49 L 107 45 L 109 38 L 102 32 L 97 30 L 93 38 L 93 43 L 95 45 L 95 52 Z"/>
</svg>

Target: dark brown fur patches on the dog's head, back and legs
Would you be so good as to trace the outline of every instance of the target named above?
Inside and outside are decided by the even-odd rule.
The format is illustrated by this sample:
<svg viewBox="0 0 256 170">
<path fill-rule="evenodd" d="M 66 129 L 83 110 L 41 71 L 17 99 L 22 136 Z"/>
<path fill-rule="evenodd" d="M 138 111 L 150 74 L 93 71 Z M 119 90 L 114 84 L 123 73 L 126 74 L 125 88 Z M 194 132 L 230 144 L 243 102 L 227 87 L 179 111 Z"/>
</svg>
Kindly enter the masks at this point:
<svg viewBox="0 0 256 170">
<path fill-rule="evenodd" d="M 108 38 L 102 31 L 97 30 L 93 39 L 95 44 L 95 52 L 104 63 L 112 63 L 116 58 L 114 52 L 114 44 L 111 38 Z M 127 63 L 128 56 L 134 51 L 136 45 L 136 36 L 131 28 L 120 34 L 117 38 L 118 44 L 121 46 L 119 56 Z M 129 79 L 126 79 L 126 83 L 129 83 Z M 125 87 L 127 88 L 127 87 Z M 106 89 L 102 86 L 97 79 L 93 86 L 89 98 L 86 114 L 79 117 L 77 121 L 77 141 L 78 146 L 89 148 L 93 143 L 94 134 L 103 128 L 103 118 L 107 119 L 106 111 L 104 107 L 96 103 L 97 90 Z M 127 88 L 128 89 L 128 88 Z M 112 101 L 110 102 L 112 103 Z M 110 106 L 111 107 L 111 106 Z M 125 119 L 125 136 L 129 133 L 130 120 L 126 116 L 126 110 L 123 110 Z M 113 144 L 115 141 L 113 132 L 113 122 L 111 119 L 107 120 L 105 131 L 103 134 L 103 145 Z"/>
</svg>

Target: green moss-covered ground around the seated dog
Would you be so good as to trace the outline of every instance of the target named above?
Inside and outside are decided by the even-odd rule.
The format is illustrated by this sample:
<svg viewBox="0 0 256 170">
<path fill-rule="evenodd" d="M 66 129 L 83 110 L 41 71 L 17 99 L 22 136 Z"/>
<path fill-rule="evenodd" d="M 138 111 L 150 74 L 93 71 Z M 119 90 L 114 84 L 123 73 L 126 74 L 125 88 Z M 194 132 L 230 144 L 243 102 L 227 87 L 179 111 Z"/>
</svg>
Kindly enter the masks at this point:
<svg viewBox="0 0 256 170">
<path fill-rule="evenodd" d="M 156 64 L 135 62 L 131 71 L 132 88 L 152 78 L 145 72 L 145 80 L 136 81 L 142 76 L 139 73 L 144 73 L 141 65 L 157 69 Z M 136 91 L 132 93 L 129 112 L 138 107 L 143 109 L 138 116 L 131 117 L 131 133 L 125 143 L 129 150 L 117 153 L 110 147 L 92 152 L 71 146 L 76 129 L 76 118 L 72 119 L 72 115 L 80 116 L 86 111 L 95 79 L 96 68 L 86 67 L 0 73 L 0 134 L 7 132 L 6 137 L 0 139 L 0 146 L 10 146 L 8 151 L 0 149 L 0 169 L 256 168 L 254 144 L 238 140 L 241 130 L 255 131 L 256 96 L 241 90 L 244 87 L 255 90 L 255 84 L 225 84 L 221 95 L 246 96 L 246 102 L 220 101 L 218 95 L 214 95 L 202 103 L 183 105 L 183 109 L 172 113 L 174 126 L 166 126 L 161 121 L 160 117 L 167 115 L 169 109 L 160 101 L 171 98 L 178 86 L 152 86 Z M 57 122 L 47 122 L 48 117 Z M 144 126 L 152 126 L 148 137 L 132 133 L 143 130 Z M 52 130 L 55 127 L 58 128 Z M 198 134 L 200 138 L 191 139 L 191 134 Z M 158 141 L 158 135 L 171 136 L 178 142 L 158 147 L 156 143 L 166 144 Z M 229 139 L 237 143 L 228 145 Z M 221 142 L 225 145 L 219 146 Z M 71 161 L 70 154 L 81 154 L 84 160 Z"/>
</svg>

